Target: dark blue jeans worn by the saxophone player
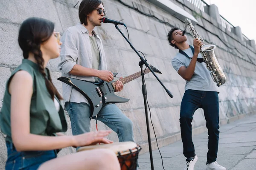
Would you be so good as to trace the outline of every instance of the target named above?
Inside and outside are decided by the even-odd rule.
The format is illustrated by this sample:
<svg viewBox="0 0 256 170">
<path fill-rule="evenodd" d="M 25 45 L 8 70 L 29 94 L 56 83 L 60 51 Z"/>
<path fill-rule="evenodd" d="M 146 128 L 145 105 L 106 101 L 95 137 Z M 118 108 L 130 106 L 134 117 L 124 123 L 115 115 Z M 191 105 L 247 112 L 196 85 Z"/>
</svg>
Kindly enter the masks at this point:
<svg viewBox="0 0 256 170">
<path fill-rule="evenodd" d="M 183 154 L 186 158 L 194 157 L 195 148 L 192 142 L 193 115 L 198 108 L 204 110 L 208 129 L 207 161 L 217 159 L 219 139 L 219 101 L 218 92 L 186 90 L 180 106 L 180 131 L 183 142 Z"/>
</svg>

